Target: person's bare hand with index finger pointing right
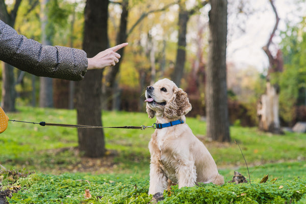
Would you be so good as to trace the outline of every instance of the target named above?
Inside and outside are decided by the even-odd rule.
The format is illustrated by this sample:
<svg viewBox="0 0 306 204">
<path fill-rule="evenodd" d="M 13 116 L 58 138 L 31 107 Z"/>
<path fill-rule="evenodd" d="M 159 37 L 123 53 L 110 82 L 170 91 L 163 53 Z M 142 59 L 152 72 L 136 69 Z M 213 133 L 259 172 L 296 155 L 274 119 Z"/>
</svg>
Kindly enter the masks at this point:
<svg viewBox="0 0 306 204">
<path fill-rule="evenodd" d="M 127 42 L 116 45 L 114 47 L 108 48 L 100 53 L 98 53 L 93 58 L 88 58 L 88 66 L 87 70 L 90 69 L 103 69 L 107 66 L 114 66 L 116 63 L 119 62 L 120 55 L 117 52 L 117 50 L 121 49 L 122 47 L 125 47 Z"/>
</svg>

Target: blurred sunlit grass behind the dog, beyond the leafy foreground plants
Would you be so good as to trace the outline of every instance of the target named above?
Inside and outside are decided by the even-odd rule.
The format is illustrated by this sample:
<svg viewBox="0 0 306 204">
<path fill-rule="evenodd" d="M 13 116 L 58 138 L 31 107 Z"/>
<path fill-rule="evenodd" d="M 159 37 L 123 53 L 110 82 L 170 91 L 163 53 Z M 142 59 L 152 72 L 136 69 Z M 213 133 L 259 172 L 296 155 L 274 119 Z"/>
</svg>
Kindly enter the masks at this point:
<svg viewBox="0 0 306 204">
<path fill-rule="evenodd" d="M 21 107 L 17 113 L 9 113 L 12 120 L 30 122 L 76 123 L 74 110 L 55 110 Z M 151 125 L 146 113 L 104 112 L 104 126 Z M 193 133 L 207 146 L 220 169 L 249 166 L 266 166 L 271 163 L 305 161 L 306 134 L 286 133 L 271 135 L 256 127 L 231 127 L 230 143 L 211 142 L 205 137 L 206 123 L 196 118 L 187 118 Z M 0 135 L 0 163 L 7 168 L 17 168 L 47 173 L 65 171 L 104 171 L 120 173 L 146 171 L 149 164 L 148 142 L 154 129 L 126 130 L 105 129 L 106 148 L 109 156 L 91 160 L 78 157 L 77 129 L 9 121 L 6 132 Z M 90 165 L 103 165 L 91 169 Z M 84 168 L 84 169 L 82 169 Z M 93 172 L 92 172 L 93 171 Z"/>
</svg>

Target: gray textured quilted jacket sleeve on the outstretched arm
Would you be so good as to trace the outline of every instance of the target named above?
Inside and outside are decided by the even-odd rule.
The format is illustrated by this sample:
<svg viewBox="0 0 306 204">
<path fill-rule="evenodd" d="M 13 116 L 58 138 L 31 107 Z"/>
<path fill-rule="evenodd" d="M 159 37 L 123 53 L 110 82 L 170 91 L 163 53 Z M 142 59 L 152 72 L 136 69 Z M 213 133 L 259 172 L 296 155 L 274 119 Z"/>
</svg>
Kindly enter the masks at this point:
<svg viewBox="0 0 306 204">
<path fill-rule="evenodd" d="M 0 60 L 39 77 L 79 81 L 87 70 L 82 49 L 42 45 L 0 20 Z"/>
</svg>

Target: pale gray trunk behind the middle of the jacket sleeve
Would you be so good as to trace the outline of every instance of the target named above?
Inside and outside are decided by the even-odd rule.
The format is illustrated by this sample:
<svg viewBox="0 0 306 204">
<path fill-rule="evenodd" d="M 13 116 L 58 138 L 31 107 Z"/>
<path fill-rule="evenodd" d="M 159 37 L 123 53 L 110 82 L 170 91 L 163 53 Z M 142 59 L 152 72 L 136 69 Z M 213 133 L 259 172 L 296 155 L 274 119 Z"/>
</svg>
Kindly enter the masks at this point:
<svg viewBox="0 0 306 204">
<path fill-rule="evenodd" d="M 51 45 L 49 40 L 50 36 L 47 36 L 47 9 L 46 5 L 49 0 L 41 1 L 41 44 Z M 53 107 L 53 80 L 47 77 L 40 77 L 40 87 L 39 87 L 39 107 Z"/>
</svg>

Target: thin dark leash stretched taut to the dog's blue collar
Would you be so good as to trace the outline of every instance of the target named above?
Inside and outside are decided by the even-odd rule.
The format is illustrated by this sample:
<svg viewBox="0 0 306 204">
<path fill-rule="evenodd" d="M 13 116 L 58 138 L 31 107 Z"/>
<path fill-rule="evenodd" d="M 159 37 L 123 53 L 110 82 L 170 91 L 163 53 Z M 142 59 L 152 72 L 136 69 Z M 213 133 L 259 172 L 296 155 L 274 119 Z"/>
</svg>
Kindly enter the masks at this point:
<svg viewBox="0 0 306 204">
<path fill-rule="evenodd" d="M 13 122 L 24 122 L 24 123 L 32 123 L 32 124 L 39 124 L 41 126 L 60 126 L 60 127 L 78 127 L 78 128 L 118 128 L 118 129 L 140 129 L 145 130 L 147 127 L 153 127 L 156 129 L 156 123 L 151 126 L 112 126 L 112 127 L 103 127 L 103 126 L 92 126 L 92 125 L 82 125 L 82 124 L 61 124 L 61 123 L 47 123 L 44 121 L 41 122 L 27 122 L 27 121 L 20 121 L 20 120 L 9 120 Z"/>
</svg>

